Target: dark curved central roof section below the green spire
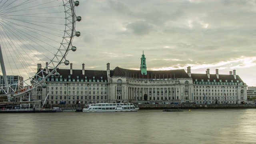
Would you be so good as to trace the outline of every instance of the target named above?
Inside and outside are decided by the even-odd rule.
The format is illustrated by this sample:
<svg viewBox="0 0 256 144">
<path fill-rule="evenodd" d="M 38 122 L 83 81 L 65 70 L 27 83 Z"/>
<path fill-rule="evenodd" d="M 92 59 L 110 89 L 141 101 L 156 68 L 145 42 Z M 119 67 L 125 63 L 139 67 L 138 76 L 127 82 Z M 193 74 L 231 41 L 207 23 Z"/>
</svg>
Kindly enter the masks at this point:
<svg viewBox="0 0 256 144">
<path fill-rule="evenodd" d="M 147 75 L 142 75 L 140 70 L 128 70 L 124 68 L 116 67 L 110 76 L 123 76 L 129 78 L 148 78 L 154 79 L 155 76 L 158 79 L 162 78 L 190 78 L 185 70 L 147 70 Z"/>
</svg>

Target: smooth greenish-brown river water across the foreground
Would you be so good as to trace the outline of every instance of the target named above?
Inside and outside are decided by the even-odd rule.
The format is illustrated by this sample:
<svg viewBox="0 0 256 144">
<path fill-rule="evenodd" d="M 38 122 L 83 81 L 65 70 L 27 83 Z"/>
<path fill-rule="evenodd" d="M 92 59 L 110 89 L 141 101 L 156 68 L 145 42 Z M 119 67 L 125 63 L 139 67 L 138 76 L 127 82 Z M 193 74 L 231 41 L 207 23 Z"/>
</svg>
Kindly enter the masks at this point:
<svg viewBox="0 0 256 144">
<path fill-rule="evenodd" d="M 256 109 L 0 114 L 1 144 L 256 144 Z"/>
</svg>

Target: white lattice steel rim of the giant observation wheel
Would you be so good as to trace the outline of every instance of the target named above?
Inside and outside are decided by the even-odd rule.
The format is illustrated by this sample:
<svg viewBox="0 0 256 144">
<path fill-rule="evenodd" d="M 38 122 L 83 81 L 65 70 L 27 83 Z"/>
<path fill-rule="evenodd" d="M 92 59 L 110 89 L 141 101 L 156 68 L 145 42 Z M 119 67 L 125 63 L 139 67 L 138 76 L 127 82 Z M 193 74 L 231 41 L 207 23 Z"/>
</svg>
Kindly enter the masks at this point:
<svg viewBox="0 0 256 144">
<path fill-rule="evenodd" d="M 73 38 L 75 36 L 75 26 L 76 26 L 76 14 L 75 14 L 75 2 L 74 0 L 62 0 L 64 6 L 64 13 L 65 13 L 65 30 L 64 35 L 62 37 L 62 42 L 54 55 L 54 57 L 47 62 L 44 68 L 41 68 L 29 78 L 23 80 L 22 82 L 16 84 L 10 84 L 8 86 L 1 86 L 0 90 L 4 92 L 2 95 L 11 95 L 16 92 L 16 88 L 19 87 L 20 89 L 31 86 L 31 85 L 38 85 L 42 84 L 46 78 L 54 74 L 60 64 L 64 63 L 66 60 L 66 56 L 69 50 L 72 48 Z M 77 1 L 76 1 L 77 2 Z M 20 85 L 22 84 L 22 86 Z M 15 89 L 13 88 L 15 86 Z M 12 91 L 11 93 L 9 91 Z"/>
</svg>

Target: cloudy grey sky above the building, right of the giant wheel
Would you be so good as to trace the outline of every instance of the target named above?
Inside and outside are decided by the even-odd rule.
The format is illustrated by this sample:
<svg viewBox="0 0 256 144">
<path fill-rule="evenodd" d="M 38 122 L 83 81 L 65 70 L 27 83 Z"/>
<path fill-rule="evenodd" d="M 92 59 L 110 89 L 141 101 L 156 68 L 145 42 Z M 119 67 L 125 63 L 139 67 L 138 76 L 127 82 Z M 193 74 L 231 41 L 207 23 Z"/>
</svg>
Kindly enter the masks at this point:
<svg viewBox="0 0 256 144">
<path fill-rule="evenodd" d="M 147 70 L 236 70 L 256 86 L 256 0 L 80 0 L 76 15 L 73 69 L 139 70 L 144 51 Z"/>
</svg>

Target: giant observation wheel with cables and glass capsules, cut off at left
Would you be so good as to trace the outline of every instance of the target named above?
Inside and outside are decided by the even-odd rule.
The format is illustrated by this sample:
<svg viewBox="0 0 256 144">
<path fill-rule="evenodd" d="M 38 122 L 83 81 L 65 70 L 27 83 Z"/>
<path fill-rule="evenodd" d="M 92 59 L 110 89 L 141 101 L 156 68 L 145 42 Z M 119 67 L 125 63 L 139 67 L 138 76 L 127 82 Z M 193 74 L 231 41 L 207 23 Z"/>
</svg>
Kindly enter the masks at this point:
<svg viewBox="0 0 256 144">
<path fill-rule="evenodd" d="M 46 78 L 59 76 L 57 68 L 68 65 L 68 52 L 76 51 L 78 5 L 74 0 L 0 1 L 0 96 L 13 96 L 32 84 L 44 87 Z M 41 63 L 45 67 L 37 70 Z M 11 75 L 23 79 L 8 83 Z"/>
</svg>

